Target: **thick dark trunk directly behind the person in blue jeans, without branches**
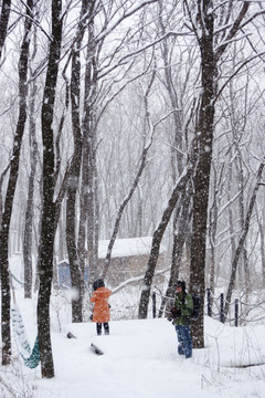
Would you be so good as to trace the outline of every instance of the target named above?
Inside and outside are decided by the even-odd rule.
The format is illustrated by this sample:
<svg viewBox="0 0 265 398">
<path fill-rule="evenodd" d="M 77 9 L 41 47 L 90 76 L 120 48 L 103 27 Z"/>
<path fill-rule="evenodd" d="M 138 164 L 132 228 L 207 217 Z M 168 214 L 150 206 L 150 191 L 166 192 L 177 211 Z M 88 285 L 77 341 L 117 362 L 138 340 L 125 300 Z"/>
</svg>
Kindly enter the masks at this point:
<svg viewBox="0 0 265 398">
<path fill-rule="evenodd" d="M 216 66 L 213 51 L 213 12 L 210 10 L 211 1 L 203 1 L 203 15 L 201 25 L 203 32 L 199 40 L 201 50 L 201 86 L 202 95 L 199 107 L 197 134 L 197 156 L 198 165 L 194 177 L 193 195 L 193 221 L 191 237 L 191 269 L 190 269 L 190 290 L 202 297 L 204 302 L 205 292 L 205 242 L 206 242 L 206 220 L 209 203 L 209 186 L 212 161 L 213 142 L 213 118 L 215 95 L 214 78 Z M 195 348 L 204 346 L 203 336 L 203 313 L 193 327 L 193 344 Z"/>
</svg>

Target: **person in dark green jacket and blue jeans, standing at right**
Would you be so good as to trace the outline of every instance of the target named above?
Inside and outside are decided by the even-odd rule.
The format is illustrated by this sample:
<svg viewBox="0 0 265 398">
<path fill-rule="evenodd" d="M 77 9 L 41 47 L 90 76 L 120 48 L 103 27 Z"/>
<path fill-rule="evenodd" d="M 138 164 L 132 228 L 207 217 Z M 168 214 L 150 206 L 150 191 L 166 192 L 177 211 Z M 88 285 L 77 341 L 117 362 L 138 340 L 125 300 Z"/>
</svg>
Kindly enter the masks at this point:
<svg viewBox="0 0 265 398">
<path fill-rule="evenodd" d="M 178 281 L 176 284 L 174 306 L 170 311 L 170 318 L 178 336 L 178 353 L 186 358 L 192 356 L 192 337 L 189 315 L 193 310 L 193 300 L 191 294 L 186 291 L 186 282 Z"/>
</svg>

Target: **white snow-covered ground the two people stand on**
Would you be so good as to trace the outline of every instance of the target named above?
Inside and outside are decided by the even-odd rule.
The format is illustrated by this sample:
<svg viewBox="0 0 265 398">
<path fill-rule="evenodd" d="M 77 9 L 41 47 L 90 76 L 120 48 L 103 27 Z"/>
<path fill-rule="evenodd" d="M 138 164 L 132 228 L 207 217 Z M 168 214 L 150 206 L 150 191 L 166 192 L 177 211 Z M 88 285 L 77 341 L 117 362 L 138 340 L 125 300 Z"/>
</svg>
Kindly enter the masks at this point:
<svg viewBox="0 0 265 398">
<path fill-rule="evenodd" d="M 19 306 L 32 346 L 36 333 L 35 306 L 31 300 L 20 300 Z M 264 325 L 235 328 L 205 317 L 205 348 L 194 349 L 190 359 L 177 354 L 177 335 L 166 318 L 113 321 L 109 325 L 109 336 L 96 336 L 92 322 L 64 324 L 61 333 L 53 332 L 52 379 L 41 378 L 40 365 L 29 369 L 14 355 L 11 367 L 0 366 L 0 396 L 265 397 Z M 67 338 L 67 332 L 76 338 Z M 104 355 L 95 355 L 91 343 L 102 348 Z"/>
</svg>

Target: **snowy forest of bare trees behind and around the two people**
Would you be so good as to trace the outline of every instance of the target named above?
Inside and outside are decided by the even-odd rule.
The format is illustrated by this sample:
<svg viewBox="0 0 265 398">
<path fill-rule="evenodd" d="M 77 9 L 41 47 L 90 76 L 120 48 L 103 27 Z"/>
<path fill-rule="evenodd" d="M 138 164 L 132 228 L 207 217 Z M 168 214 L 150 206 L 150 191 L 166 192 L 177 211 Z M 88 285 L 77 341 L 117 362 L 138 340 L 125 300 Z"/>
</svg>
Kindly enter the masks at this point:
<svg viewBox="0 0 265 398">
<path fill-rule="evenodd" d="M 265 2 L 0 1 L 2 366 L 10 364 L 10 258 L 38 295 L 43 378 L 54 376 L 50 300 L 67 259 L 72 322 L 112 269 L 116 239 L 152 237 L 165 296 L 265 286 Z M 108 240 L 98 271 L 98 242 Z M 88 283 L 85 284 L 85 270 Z M 163 303 L 161 313 L 167 303 Z M 229 307 L 225 305 L 224 312 Z M 194 344 L 203 347 L 203 314 Z"/>
</svg>

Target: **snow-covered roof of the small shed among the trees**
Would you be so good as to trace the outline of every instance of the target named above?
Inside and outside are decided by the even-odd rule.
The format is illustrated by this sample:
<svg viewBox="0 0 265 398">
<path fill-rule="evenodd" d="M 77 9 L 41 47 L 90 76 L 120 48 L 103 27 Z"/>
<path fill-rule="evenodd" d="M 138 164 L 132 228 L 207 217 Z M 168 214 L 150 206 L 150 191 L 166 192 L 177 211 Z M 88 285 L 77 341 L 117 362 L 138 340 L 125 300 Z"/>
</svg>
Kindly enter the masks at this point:
<svg viewBox="0 0 265 398">
<path fill-rule="evenodd" d="M 149 254 L 151 250 L 152 237 L 116 239 L 112 251 L 112 258 Z M 98 242 L 98 259 L 105 259 L 109 241 L 102 240 Z M 160 245 L 160 253 L 166 251 Z"/>
</svg>

